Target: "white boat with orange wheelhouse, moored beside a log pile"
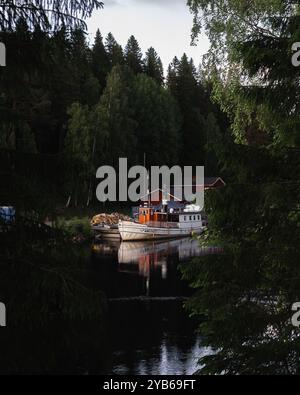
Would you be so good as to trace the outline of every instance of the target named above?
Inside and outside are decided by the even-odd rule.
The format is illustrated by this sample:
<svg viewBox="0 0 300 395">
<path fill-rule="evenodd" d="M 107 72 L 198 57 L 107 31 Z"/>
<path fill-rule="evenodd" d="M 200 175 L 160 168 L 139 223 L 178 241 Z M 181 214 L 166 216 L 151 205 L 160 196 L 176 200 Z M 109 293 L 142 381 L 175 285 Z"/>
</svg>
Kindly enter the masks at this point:
<svg viewBox="0 0 300 395">
<path fill-rule="evenodd" d="M 123 241 L 159 240 L 201 234 L 204 223 L 200 210 L 193 205 L 182 211 L 168 212 L 167 207 L 155 211 L 153 207 L 140 207 L 138 222 L 119 222 Z"/>
</svg>

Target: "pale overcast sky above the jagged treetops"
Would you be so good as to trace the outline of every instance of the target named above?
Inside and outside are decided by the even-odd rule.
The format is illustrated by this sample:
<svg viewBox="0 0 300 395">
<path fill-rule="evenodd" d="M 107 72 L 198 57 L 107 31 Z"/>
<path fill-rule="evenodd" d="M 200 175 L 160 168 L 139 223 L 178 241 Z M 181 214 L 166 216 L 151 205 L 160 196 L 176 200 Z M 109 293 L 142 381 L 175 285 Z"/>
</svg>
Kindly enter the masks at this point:
<svg viewBox="0 0 300 395">
<path fill-rule="evenodd" d="M 112 32 L 125 47 L 131 34 L 138 40 L 143 52 L 153 46 L 161 57 L 165 70 L 174 56 L 184 52 L 192 57 L 196 66 L 208 50 L 206 37 L 192 47 L 193 17 L 186 0 L 103 0 L 104 9 L 94 12 L 87 21 L 90 40 L 97 28 L 105 37 Z"/>
</svg>

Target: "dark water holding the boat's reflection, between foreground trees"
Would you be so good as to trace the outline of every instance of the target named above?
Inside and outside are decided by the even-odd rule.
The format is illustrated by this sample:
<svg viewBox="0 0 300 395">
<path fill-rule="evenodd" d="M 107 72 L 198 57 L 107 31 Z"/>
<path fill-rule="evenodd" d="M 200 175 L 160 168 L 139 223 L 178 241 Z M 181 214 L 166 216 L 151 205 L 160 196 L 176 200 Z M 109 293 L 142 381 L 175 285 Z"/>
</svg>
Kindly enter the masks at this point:
<svg viewBox="0 0 300 395">
<path fill-rule="evenodd" d="M 192 239 L 94 246 L 94 282 L 109 298 L 103 373 L 180 375 L 198 369 L 198 359 L 208 350 L 183 308 L 192 291 L 178 265 L 214 252 Z"/>
</svg>

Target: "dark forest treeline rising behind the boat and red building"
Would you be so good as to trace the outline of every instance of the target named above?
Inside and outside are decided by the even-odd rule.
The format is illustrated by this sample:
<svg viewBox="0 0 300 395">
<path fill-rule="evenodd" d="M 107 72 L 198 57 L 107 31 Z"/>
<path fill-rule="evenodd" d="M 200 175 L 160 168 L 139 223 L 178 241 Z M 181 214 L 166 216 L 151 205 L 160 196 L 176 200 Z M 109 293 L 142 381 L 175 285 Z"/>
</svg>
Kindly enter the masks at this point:
<svg viewBox="0 0 300 395">
<path fill-rule="evenodd" d="M 49 165 L 59 157 L 56 189 L 68 204 L 90 203 L 96 168 L 119 157 L 130 165 L 146 155 L 147 166 L 205 164 L 217 172 L 207 143 L 224 132 L 226 118 L 185 54 L 165 77 L 155 49 L 143 55 L 134 36 L 123 49 L 98 30 L 90 46 L 82 30 L 49 34 L 20 20 L 0 39 L 8 49 L 0 70 L 0 147 L 49 155 Z"/>
</svg>

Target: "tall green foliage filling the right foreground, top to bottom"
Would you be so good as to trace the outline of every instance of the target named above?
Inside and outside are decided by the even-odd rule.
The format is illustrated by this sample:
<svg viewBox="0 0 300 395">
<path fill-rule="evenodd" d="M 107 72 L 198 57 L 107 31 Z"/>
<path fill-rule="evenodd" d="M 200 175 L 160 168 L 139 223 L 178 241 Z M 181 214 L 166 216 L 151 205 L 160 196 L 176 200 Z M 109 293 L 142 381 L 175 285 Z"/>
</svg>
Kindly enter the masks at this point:
<svg viewBox="0 0 300 395">
<path fill-rule="evenodd" d="M 209 235 L 224 254 L 183 268 L 196 289 L 187 307 L 212 350 L 200 373 L 299 373 L 298 3 L 188 2 L 194 39 L 205 29 L 211 40 L 214 100 L 230 118 L 213 142 L 227 186 L 206 196 Z"/>
</svg>

